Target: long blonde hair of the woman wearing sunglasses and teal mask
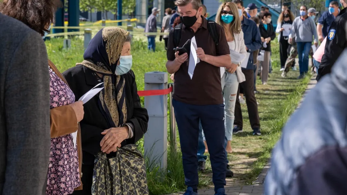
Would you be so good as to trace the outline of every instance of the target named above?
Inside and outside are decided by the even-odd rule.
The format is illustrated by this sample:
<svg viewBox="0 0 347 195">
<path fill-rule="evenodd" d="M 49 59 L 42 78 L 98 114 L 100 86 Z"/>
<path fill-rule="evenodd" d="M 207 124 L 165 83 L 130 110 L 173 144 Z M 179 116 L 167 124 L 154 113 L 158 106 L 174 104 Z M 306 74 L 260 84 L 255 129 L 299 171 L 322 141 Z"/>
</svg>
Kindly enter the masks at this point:
<svg viewBox="0 0 347 195">
<path fill-rule="evenodd" d="M 230 28 L 226 29 L 226 24 L 221 20 L 222 11 L 225 7 L 228 7 L 231 10 L 232 15 L 234 15 L 234 20 L 230 23 Z M 241 28 L 241 19 L 238 15 L 237 6 L 235 3 L 232 2 L 225 2 L 222 5 L 219 6 L 217 15 L 215 18 L 215 22 L 219 25 L 221 25 L 226 33 L 231 33 L 231 35 L 234 37 L 234 34 L 239 34 L 242 31 Z"/>
</svg>

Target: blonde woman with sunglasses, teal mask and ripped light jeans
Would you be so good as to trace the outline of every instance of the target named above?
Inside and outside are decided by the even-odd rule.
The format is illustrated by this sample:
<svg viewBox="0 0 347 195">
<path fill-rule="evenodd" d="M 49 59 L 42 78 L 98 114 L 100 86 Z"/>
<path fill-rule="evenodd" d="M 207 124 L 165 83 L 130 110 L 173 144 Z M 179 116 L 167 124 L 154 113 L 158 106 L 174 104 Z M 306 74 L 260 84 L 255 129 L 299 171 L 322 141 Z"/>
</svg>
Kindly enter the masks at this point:
<svg viewBox="0 0 347 195">
<path fill-rule="evenodd" d="M 215 21 L 224 28 L 230 51 L 234 50 L 246 56 L 246 45 L 243 39 L 240 16 L 242 16 L 242 10 L 237 9 L 235 3 L 226 2 L 219 6 Z M 238 76 L 243 74 L 239 65 L 244 60 L 243 59 L 241 62 L 235 63 L 232 61 L 232 59 L 233 57 L 231 57 L 231 68 L 225 70 L 223 75 L 221 75 L 225 104 L 225 136 L 227 140 L 226 151 L 228 153 L 232 152 L 232 128 L 234 126 L 235 102 L 239 86 L 239 81 L 236 74 L 238 74 Z"/>
</svg>

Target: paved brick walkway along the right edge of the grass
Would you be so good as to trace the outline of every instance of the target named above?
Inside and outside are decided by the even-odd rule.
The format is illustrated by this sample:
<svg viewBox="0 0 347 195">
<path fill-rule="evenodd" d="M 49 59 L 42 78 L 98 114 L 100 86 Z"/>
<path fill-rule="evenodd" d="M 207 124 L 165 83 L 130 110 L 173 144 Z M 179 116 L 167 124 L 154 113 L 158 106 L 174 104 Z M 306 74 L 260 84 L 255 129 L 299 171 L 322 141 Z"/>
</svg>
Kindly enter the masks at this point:
<svg viewBox="0 0 347 195">
<path fill-rule="evenodd" d="M 308 83 L 305 94 L 303 95 L 303 98 L 301 102 L 299 103 L 298 107 L 300 107 L 307 92 L 310 91 L 316 85 L 317 81 L 315 80 L 315 78 L 316 78 L 316 74 L 311 78 L 310 82 Z M 264 184 L 266 173 L 270 169 L 270 166 L 271 166 L 270 162 L 268 162 L 253 185 L 240 186 L 240 187 L 226 187 L 225 188 L 226 194 L 227 195 L 263 195 L 263 192 L 264 192 L 263 184 Z M 180 194 L 183 194 L 183 193 L 180 193 Z M 171 194 L 171 195 L 180 195 L 180 194 Z M 213 189 L 199 190 L 198 194 L 199 195 L 214 195 L 214 190 Z"/>
</svg>

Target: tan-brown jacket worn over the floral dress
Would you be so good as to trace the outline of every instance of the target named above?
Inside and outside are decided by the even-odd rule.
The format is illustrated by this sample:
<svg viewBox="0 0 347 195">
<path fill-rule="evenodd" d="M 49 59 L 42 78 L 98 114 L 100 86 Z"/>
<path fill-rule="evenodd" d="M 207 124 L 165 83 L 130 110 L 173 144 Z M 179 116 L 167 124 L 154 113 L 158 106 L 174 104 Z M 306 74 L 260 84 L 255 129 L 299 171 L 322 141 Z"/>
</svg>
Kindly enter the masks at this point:
<svg viewBox="0 0 347 195">
<path fill-rule="evenodd" d="M 58 77 L 63 80 L 66 84 L 65 78 L 59 72 L 57 67 L 52 61 L 48 60 L 49 67 L 53 70 Z M 68 85 L 68 84 L 67 84 Z M 77 152 L 78 152 L 78 168 L 79 176 L 82 178 L 82 144 L 81 144 L 81 128 L 77 122 L 76 114 L 74 109 L 69 106 L 59 106 L 51 109 L 51 138 L 67 135 L 76 132 L 77 129 Z M 82 189 L 81 186 L 75 188 L 75 190 Z"/>
</svg>

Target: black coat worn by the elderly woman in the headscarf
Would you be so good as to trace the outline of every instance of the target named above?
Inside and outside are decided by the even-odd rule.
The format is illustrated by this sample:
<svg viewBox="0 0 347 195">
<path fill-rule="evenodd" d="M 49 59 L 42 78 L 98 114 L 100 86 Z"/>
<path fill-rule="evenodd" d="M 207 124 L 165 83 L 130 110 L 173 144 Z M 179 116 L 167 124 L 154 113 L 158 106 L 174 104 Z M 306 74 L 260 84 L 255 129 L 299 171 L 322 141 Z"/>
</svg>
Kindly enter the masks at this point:
<svg viewBox="0 0 347 195">
<path fill-rule="evenodd" d="M 86 92 L 92 89 L 99 82 L 94 75 L 94 71 L 77 65 L 63 73 L 71 90 L 75 94 L 76 101 Z M 125 144 L 134 144 L 140 140 L 147 131 L 148 114 L 145 108 L 141 107 L 140 98 L 137 95 L 137 86 L 135 74 L 132 70 L 124 74 L 125 78 L 125 97 L 127 104 L 127 123 L 134 126 L 134 136 L 122 142 Z M 99 108 L 99 95 L 94 96 L 90 101 L 84 104 L 84 118 L 80 122 L 82 136 L 83 163 L 93 165 L 96 154 L 101 151 L 100 141 L 103 136 L 101 132 L 111 128 L 103 113 Z"/>
</svg>

